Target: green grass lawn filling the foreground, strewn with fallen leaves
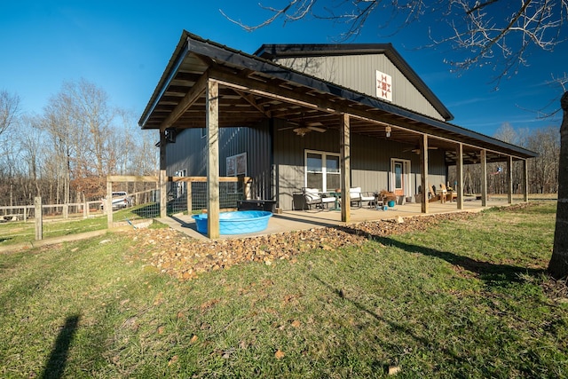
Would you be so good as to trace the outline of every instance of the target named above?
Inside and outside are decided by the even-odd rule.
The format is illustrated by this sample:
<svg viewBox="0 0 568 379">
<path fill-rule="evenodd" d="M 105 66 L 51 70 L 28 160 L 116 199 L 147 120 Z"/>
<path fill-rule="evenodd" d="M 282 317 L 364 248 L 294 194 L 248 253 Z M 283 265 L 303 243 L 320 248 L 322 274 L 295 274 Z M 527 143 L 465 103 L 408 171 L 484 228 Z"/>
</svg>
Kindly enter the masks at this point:
<svg viewBox="0 0 568 379">
<path fill-rule="evenodd" d="M 491 209 L 185 282 L 134 232 L 2 254 L 0 376 L 568 377 L 555 216 Z"/>
</svg>

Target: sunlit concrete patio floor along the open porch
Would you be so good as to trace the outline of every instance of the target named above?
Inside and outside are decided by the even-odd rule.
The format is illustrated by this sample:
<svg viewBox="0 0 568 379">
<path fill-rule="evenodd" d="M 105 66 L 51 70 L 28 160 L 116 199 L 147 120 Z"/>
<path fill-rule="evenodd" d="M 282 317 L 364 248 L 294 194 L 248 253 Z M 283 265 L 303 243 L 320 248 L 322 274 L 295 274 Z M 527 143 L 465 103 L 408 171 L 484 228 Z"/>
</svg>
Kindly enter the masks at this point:
<svg viewBox="0 0 568 379">
<path fill-rule="evenodd" d="M 515 201 L 518 202 L 518 201 Z M 439 201 L 430 202 L 430 212 L 426 215 L 421 213 L 420 203 L 406 203 L 403 205 L 395 205 L 394 208 L 388 210 L 375 209 L 375 208 L 351 208 L 351 220 L 349 224 L 355 224 L 365 221 L 378 221 L 382 219 L 393 219 L 398 217 L 415 217 L 415 216 L 428 216 L 441 213 L 453 212 L 479 212 L 483 209 L 492 207 L 507 206 L 509 203 L 506 199 L 491 199 L 487 201 L 487 206 L 482 207 L 481 201 L 470 200 L 463 201 L 463 209 L 457 209 L 456 202 L 440 203 Z M 179 232 L 185 233 L 195 239 L 208 239 L 206 235 L 198 233 L 195 227 L 195 221 L 188 215 L 175 215 L 171 217 L 160 218 L 162 224 L 169 225 L 171 228 Z M 284 233 L 291 231 L 299 231 L 305 229 L 312 229 L 317 227 L 333 227 L 337 225 L 345 225 L 341 221 L 340 210 L 327 210 L 327 209 L 312 209 L 312 210 L 288 210 L 280 214 L 274 214 L 269 222 L 268 227 L 259 233 L 247 234 L 232 234 L 221 235 L 221 239 L 226 238 L 241 238 L 251 237 L 257 235 Z"/>
</svg>

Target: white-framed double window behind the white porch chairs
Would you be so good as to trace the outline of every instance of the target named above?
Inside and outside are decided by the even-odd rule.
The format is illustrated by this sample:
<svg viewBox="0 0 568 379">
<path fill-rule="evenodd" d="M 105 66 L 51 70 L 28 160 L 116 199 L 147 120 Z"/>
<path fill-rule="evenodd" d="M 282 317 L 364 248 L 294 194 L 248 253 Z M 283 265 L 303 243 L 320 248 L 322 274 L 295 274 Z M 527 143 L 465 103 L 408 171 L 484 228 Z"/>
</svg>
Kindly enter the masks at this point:
<svg viewBox="0 0 568 379">
<path fill-rule="evenodd" d="M 308 188 L 318 188 L 321 192 L 335 191 L 341 186 L 341 168 L 339 154 L 304 151 L 304 185 Z"/>
</svg>

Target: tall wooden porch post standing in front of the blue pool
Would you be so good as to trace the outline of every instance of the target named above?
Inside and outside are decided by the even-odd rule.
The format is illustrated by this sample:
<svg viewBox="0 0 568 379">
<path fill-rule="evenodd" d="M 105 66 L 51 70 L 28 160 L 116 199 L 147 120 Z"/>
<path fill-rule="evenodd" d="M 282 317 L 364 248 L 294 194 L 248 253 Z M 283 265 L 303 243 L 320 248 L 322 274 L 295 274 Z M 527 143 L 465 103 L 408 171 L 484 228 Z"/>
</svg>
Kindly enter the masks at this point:
<svg viewBox="0 0 568 379">
<path fill-rule="evenodd" d="M 207 83 L 207 235 L 219 238 L 219 83 Z"/>
</svg>

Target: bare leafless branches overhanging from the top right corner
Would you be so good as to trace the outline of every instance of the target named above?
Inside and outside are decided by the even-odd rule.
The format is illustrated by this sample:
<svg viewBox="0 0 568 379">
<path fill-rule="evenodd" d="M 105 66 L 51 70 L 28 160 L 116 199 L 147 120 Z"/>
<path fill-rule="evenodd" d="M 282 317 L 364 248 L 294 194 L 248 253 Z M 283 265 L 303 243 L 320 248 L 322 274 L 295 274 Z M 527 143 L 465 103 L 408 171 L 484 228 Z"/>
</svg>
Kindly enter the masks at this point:
<svg viewBox="0 0 568 379">
<path fill-rule="evenodd" d="M 339 36 L 343 41 L 359 36 L 369 20 L 390 34 L 414 21 L 430 20 L 430 46 L 450 45 L 461 57 L 447 63 L 459 70 L 493 66 L 501 73 L 496 79 L 515 75 L 519 66 L 528 63 L 530 48 L 553 51 L 564 42 L 561 32 L 568 20 L 568 0 L 520 0 L 515 4 L 499 0 L 289 0 L 279 7 L 260 6 L 268 16 L 256 25 L 220 12 L 248 31 L 277 20 L 333 20 L 344 25 Z"/>
</svg>

